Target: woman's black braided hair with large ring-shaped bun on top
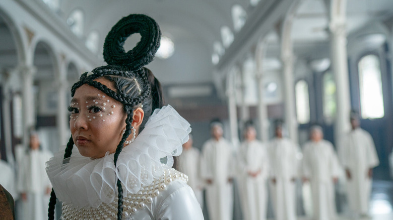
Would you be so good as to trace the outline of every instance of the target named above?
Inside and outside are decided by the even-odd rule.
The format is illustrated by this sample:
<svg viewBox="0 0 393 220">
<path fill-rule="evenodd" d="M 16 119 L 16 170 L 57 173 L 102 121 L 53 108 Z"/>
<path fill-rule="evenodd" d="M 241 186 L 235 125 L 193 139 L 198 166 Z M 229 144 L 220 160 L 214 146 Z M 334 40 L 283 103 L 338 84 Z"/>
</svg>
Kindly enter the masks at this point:
<svg viewBox="0 0 393 220">
<path fill-rule="evenodd" d="M 141 34 L 141 41 L 132 50 L 125 52 L 123 48 L 124 42 L 134 33 Z M 125 119 L 126 127 L 114 153 L 113 161 L 115 166 L 124 142 L 132 132 L 131 124 L 133 122 L 134 109 L 142 107 L 145 113 L 142 124 L 139 127 L 141 132 L 153 110 L 164 105 L 160 82 L 149 69 L 144 67 L 153 60 L 160 46 L 160 39 L 160 28 L 152 18 L 140 14 L 132 14 L 122 18 L 112 27 L 105 38 L 103 55 L 108 65 L 83 73 L 80 80 L 71 89 L 72 96 L 74 96 L 77 88 L 83 84 L 88 84 L 123 104 L 123 111 L 127 115 Z M 98 78 L 109 80 L 113 84 L 115 91 L 95 81 Z M 74 141 L 71 137 L 65 148 L 64 159 L 71 157 L 73 146 Z M 123 211 L 123 189 L 118 178 L 116 185 L 118 190 L 117 219 L 120 220 L 122 219 Z M 52 189 L 48 209 L 49 219 L 54 219 L 55 203 L 56 195 Z"/>
</svg>

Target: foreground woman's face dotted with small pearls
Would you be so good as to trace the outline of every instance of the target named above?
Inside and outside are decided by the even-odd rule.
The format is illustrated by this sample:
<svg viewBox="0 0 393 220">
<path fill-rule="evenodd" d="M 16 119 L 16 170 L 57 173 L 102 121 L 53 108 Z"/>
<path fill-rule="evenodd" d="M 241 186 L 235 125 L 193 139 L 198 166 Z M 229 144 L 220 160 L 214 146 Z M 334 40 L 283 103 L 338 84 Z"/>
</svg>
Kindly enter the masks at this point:
<svg viewBox="0 0 393 220">
<path fill-rule="evenodd" d="M 106 79 L 96 81 L 115 90 Z M 123 105 L 101 90 L 84 84 L 75 91 L 70 105 L 70 130 L 82 156 L 101 158 L 113 153 L 125 128 Z"/>
</svg>

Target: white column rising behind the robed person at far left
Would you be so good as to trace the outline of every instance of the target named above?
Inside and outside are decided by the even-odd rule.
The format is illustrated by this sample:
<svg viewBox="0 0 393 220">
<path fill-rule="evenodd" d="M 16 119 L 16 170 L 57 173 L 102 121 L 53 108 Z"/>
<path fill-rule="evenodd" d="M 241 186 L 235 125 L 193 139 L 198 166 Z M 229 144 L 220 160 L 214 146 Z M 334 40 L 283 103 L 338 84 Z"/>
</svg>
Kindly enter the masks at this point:
<svg viewBox="0 0 393 220">
<path fill-rule="evenodd" d="M 33 91 L 33 79 L 36 73 L 34 66 L 20 65 L 18 67 L 22 81 L 22 106 L 23 106 L 23 146 L 27 149 L 29 145 L 30 129 L 36 124 L 35 97 Z"/>
</svg>

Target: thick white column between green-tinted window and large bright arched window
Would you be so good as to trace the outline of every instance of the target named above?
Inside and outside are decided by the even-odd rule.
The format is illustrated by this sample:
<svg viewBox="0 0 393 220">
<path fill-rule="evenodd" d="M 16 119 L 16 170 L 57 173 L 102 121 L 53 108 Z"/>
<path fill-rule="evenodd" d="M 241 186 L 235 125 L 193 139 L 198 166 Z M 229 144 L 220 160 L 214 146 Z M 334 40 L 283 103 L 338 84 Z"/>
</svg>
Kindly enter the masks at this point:
<svg viewBox="0 0 393 220">
<path fill-rule="evenodd" d="M 339 147 L 342 136 L 350 130 L 349 113 L 351 111 L 345 22 L 337 22 L 333 19 L 330 23 L 330 31 L 331 59 L 337 100 L 334 137 L 335 144 Z"/>
</svg>

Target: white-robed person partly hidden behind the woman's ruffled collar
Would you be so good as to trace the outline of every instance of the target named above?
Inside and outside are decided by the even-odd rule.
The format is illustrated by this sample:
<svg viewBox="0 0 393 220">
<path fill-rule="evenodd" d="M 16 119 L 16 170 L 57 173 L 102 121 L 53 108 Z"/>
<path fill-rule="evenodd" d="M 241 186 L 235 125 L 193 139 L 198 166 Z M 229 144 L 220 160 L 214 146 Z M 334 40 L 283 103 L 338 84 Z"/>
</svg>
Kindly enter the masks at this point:
<svg viewBox="0 0 393 220">
<path fill-rule="evenodd" d="M 201 207 L 204 205 L 203 185 L 201 179 L 201 152 L 192 146 L 192 135 L 183 146 L 178 156 L 178 170 L 188 176 L 187 184 L 192 188 Z"/>
</svg>

